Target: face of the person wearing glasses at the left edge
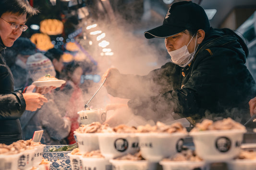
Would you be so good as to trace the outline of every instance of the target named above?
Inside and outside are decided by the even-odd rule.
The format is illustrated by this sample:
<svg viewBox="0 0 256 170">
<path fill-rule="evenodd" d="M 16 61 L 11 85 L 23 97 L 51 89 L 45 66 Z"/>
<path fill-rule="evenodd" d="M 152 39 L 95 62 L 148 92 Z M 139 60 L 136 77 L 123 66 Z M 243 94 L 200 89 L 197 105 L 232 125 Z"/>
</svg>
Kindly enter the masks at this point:
<svg viewBox="0 0 256 170">
<path fill-rule="evenodd" d="M 5 21 L 4 21 L 5 20 Z M 16 23 L 18 25 L 24 25 L 26 23 L 26 14 L 17 14 L 11 12 L 5 12 L 0 18 L 0 37 L 3 44 L 7 47 L 11 47 L 14 41 L 22 34 L 20 27 L 13 30 L 10 23 Z"/>
</svg>

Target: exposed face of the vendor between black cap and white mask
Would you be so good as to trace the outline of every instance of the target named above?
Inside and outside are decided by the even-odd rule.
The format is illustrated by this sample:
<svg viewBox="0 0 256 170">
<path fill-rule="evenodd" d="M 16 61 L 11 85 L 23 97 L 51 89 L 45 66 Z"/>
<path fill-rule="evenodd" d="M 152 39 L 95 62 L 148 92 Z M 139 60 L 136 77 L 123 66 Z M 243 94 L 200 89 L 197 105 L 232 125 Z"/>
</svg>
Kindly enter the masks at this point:
<svg viewBox="0 0 256 170">
<path fill-rule="evenodd" d="M 191 40 L 192 36 L 186 31 L 186 33 L 178 33 L 173 36 L 165 38 L 165 47 L 166 49 L 170 51 L 177 50 L 184 45 L 188 45 L 189 41 Z M 194 52 L 195 48 L 195 36 L 187 46 L 189 53 Z"/>
</svg>

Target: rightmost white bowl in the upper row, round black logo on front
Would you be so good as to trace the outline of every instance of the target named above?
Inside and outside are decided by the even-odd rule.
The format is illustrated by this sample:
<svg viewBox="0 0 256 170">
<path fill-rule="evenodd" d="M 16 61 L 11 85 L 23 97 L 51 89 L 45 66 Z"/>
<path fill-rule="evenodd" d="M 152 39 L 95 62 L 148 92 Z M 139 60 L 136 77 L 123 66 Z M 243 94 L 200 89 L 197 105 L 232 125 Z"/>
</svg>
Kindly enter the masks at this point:
<svg viewBox="0 0 256 170">
<path fill-rule="evenodd" d="M 246 130 L 191 132 L 196 154 L 205 161 L 226 161 L 238 156 Z"/>
</svg>

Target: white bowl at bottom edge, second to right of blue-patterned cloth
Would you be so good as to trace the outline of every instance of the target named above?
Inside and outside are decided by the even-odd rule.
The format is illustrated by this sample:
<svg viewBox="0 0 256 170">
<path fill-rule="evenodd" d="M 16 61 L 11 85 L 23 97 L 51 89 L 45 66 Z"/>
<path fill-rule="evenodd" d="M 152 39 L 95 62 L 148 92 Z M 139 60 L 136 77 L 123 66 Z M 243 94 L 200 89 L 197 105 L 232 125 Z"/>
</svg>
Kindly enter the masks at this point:
<svg viewBox="0 0 256 170">
<path fill-rule="evenodd" d="M 108 159 L 104 158 L 85 158 L 79 156 L 82 164 L 83 170 L 111 170 L 112 165 Z"/>
</svg>

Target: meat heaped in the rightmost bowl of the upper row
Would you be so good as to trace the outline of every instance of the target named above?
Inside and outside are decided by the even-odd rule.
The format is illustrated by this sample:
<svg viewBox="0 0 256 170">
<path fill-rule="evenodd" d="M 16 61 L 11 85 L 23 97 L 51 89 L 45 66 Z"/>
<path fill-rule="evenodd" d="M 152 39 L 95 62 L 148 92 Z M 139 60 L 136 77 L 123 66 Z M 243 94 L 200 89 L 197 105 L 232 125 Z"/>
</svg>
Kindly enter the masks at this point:
<svg viewBox="0 0 256 170">
<path fill-rule="evenodd" d="M 225 118 L 223 120 L 218 120 L 213 122 L 212 120 L 205 119 L 202 123 L 196 123 L 195 127 L 191 130 L 191 132 L 198 132 L 204 130 L 231 130 L 231 129 L 241 129 L 245 130 L 245 126 L 235 122 L 231 118 Z"/>
</svg>

